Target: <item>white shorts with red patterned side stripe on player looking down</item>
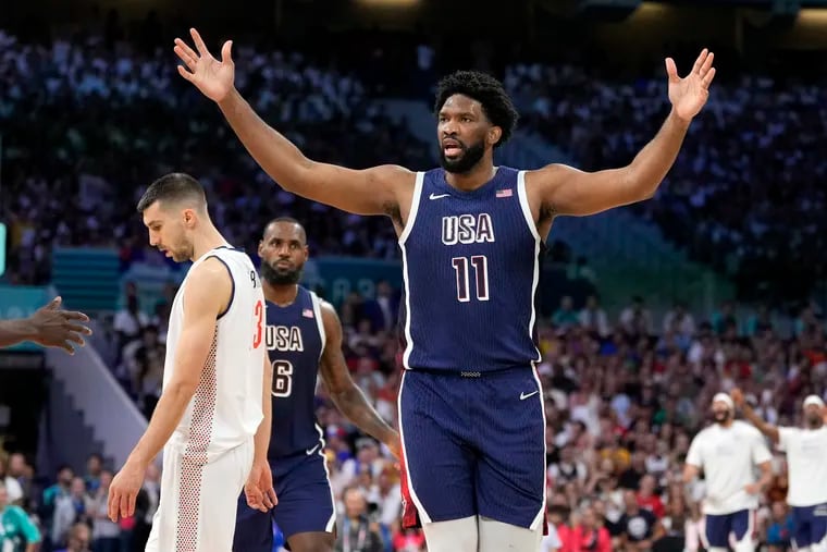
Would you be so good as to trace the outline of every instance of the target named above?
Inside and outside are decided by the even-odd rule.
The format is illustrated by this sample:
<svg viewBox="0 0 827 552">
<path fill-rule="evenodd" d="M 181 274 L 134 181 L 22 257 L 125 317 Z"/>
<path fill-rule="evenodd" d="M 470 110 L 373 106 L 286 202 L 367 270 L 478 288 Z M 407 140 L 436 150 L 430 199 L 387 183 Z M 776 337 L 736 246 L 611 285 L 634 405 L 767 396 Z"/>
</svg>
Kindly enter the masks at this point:
<svg viewBox="0 0 827 552">
<path fill-rule="evenodd" d="M 252 467 L 252 438 L 209 464 L 163 450 L 161 500 L 146 552 L 230 552 L 238 495 Z"/>
</svg>

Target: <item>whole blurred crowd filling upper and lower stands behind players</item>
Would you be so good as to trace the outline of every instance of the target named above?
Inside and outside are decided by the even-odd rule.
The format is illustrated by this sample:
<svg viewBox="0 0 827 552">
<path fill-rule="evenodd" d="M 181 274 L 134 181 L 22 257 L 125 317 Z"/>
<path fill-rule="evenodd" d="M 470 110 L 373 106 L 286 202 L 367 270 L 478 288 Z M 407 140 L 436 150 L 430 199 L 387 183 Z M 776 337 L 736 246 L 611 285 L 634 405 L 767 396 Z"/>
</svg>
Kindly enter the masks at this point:
<svg viewBox="0 0 827 552">
<path fill-rule="evenodd" d="M 26 25 L 0 30 L 4 284 L 51 283 L 53 252 L 62 247 L 114 248 L 121 274 L 136 265 L 169 270 L 147 247 L 134 206 L 147 183 L 172 170 L 205 184 L 218 228 L 248 250 L 266 221 L 288 213 L 308 229 L 312 256 L 398 260 L 388 221 L 295 197 L 258 169 L 214 106 L 176 75 L 171 40 L 158 38 L 168 38 L 159 28 L 181 33 L 186 24 L 157 13 L 137 23 L 115 11 L 91 13 L 82 25 L 48 33 Z M 418 133 L 419 122 L 396 116 L 382 100 L 404 93 L 424 105 L 434 78 L 458 62 L 501 76 L 521 112 L 521 131 L 585 170 L 628 162 L 668 109 L 658 56 L 629 71 L 577 48 L 540 57 L 480 41 L 459 56 L 450 39 L 421 28 L 340 40 L 346 47 L 237 37 L 236 77 L 262 118 L 308 157 L 348 167 L 430 168 L 433 144 Z M 684 56 L 694 45 L 675 48 Z M 737 385 L 779 425 L 800 422 L 806 394 L 827 400 L 823 73 L 727 64 L 730 74 L 720 71 L 662 191 L 629 212 L 687 262 L 731 281 L 731 296 L 702 304 L 679 292 L 658 305 L 646 290 L 613 296 L 577 241 L 552 231 L 539 332 L 546 551 L 701 550 L 698 503 L 687 500 L 679 477 L 691 438 L 708 422 L 713 394 Z M 560 274 L 568 291 L 554 289 Z M 336 306 L 351 375 L 395 424 L 399 290 L 377 284 L 374 295 L 354 291 Z M 148 417 L 160 395 L 175 282 L 151 303 L 141 298 L 143 285 L 123 282 L 120 304 L 98 317 L 96 347 Z M 317 398 L 340 519 L 370 522 L 366 551 L 425 550 L 421 532 L 399 528 L 392 456 L 344 419 L 322 387 Z M 0 447 L 0 513 L 20 506 L 25 515 L 17 533 L 0 531 L 0 550 L 30 550 L 26 540 L 47 552 L 143 550 L 158 505 L 156 467 L 136 515 L 114 524 L 106 518 L 106 495 L 119 466 L 101 451 L 88 451 L 85 465 L 44 470 L 36 450 L 4 438 L 11 444 Z M 774 473 L 756 528 L 766 550 L 782 551 L 791 527 L 780 453 Z M 279 535 L 276 528 L 276 550 Z"/>
</svg>

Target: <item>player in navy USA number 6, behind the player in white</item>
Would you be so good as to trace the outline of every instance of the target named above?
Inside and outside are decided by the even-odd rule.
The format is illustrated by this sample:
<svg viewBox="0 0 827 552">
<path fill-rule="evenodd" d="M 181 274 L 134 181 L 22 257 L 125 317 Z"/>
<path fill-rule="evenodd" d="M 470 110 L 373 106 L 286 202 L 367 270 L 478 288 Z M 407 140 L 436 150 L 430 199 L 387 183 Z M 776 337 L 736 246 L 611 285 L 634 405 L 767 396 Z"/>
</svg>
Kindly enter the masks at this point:
<svg viewBox="0 0 827 552">
<path fill-rule="evenodd" d="M 270 552 L 274 520 L 293 552 L 332 552 L 336 511 L 322 430 L 316 422 L 317 375 L 342 414 L 396 455 L 399 436 L 350 379 L 342 354 L 342 323 L 333 306 L 298 285 L 308 259 L 301 224 L 274 219 L 264 228 L 258 253 L 267 299 L 264 341 L 273 366 L 268 459 L 279 505 L 262 513 L 239 500 L 233 550 Z"/>
</svg>

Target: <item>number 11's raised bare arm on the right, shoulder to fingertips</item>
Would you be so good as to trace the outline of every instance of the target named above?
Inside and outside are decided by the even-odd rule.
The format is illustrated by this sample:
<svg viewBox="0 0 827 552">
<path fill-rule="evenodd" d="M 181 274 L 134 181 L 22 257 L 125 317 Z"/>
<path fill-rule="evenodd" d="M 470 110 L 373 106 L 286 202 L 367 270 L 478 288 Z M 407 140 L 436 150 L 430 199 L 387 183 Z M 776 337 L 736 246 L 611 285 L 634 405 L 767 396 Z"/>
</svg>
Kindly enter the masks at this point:
<svg viewBox="0 0 827 552">
<path fill-rule="evenodd" d="M 666 60 L 672 109 L 661 131 L 621 169 L 583 172 L 551 164 L 527 174 L 527 185 L 539 189 L 541 211 L 584 216 L 651 198 L 678 157 L 692 119 L 708 98 L 715 77 L 713 54 L 704 49 L 692 72 L 678 76 L 675 62 Z"/>
</svg>

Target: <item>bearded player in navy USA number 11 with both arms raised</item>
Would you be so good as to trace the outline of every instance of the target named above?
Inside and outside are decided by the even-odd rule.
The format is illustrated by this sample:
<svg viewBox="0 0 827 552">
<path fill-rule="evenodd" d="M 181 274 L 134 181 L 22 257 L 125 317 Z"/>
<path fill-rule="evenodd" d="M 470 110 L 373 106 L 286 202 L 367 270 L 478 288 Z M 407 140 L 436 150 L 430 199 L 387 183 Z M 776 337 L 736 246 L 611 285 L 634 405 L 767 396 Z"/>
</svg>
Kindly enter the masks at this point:
<svg viewBox="0 0 827 552">
<path fill-rule="evenodd" d="M 494 165 L 517 112 L 503 85 L 457 72 L 439 85 L 442 168 L 366 170 L 317 162 L 264 123 L 234 87 L 232 44 L 213 58 L 176 39 L 180 74 L 215 101 L 244 146 L 284 189 L 393 221 L 403 256 L 404 376 L 399 391 L 404 524 L 430 552 L 536 550 L 545 514 L 545 420 L 535 364 L 540 254 L 557 216 L 652 197 L 675 162 L 715 76 L 704 50 L 690 74 L 671 59 L 671 110 L 620 169 L 535 171 Z M 416 506 L 416 512 L 409 506 Z"/>
</svg>

